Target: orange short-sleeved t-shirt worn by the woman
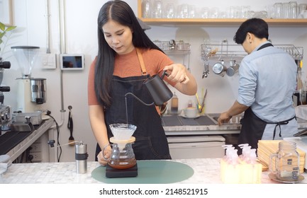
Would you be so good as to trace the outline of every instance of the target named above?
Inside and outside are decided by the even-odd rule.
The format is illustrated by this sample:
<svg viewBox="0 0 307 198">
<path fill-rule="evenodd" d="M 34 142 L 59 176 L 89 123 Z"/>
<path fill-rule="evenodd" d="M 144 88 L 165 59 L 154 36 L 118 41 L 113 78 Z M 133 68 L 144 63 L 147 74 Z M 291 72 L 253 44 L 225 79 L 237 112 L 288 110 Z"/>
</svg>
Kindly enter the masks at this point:
<svg viewBox="0 0 307 198">
<path fill-rule="evenodd" d="M 162 73 L 164 66 L 174 63 L 171 59 L 169 59 L 169 57 L 167 57 L 166 54 L 160 52 L 159 50 L 140 49 L 140 52 L 143 56 L 147 74 L 150 74 L 150 76 Z M 89 79 L 87 84 L 89 105 L 99 105 L 96 98 L 96 93 L 94 91 L 95 65 L 96 59 L 94 59 L 94 62 L 91 63 L 89 69 Z M 119 76 L 121 78 L 142 76 L 142 69 L 138 60 L 138 55 L 136 54 L 136 50 L 133 50 L 128 54 L 116 55 L 113 76 Z M 164 77 L 164 80 L 167 81 L 167 78 Z M 169 81 L 167 82 L 174 86 L 174 83 Z"/>
</svg>

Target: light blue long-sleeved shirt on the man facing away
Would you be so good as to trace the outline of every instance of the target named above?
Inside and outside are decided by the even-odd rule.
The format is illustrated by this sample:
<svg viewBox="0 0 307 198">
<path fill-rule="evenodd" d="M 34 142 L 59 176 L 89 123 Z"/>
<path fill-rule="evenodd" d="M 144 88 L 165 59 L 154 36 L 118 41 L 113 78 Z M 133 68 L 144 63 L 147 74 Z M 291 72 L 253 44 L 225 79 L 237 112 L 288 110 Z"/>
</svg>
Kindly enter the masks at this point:
<svg viewBox="0 0 307 198">
<path fill-rule="evenodd" d="M 292 95 L 296 91 L 297 65 L 284 50 L 259 47 L 240 64 L 238 103 L 251 106 L 266 122 L 280 122 L 294 117 Z"/>
</svg>

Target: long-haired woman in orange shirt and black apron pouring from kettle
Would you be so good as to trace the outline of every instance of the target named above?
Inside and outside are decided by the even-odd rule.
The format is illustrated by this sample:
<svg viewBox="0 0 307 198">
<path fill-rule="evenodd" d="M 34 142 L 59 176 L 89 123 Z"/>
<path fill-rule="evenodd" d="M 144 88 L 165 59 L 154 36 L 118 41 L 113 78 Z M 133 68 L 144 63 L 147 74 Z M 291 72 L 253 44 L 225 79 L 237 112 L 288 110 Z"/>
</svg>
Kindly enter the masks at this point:
<svg viewBox="0 0 307 198">
<path fill-rule="evenodd" d="M 154 105 L 137 100 L 128 103 L 125 93 L 133 93 L 145 103 L 152 98 L 143 85 L 147 74 L 162 75 L 170 85 L 186 95 L 194 95 L 197 85 L 182 64 L 174 64 L 145 34 L 133 10 L 125 1 L 108 1 L 98 16 L 98 56 L 91 64 L 88 81 L 89 120 L 96 141 L 96 161 L 106 165 L 111 147 L 101 152 L 113 136 L 109 124 L 137 126 L 133 151 L 137 160 L 170 159 L 167 138 Z"/>
</svg>

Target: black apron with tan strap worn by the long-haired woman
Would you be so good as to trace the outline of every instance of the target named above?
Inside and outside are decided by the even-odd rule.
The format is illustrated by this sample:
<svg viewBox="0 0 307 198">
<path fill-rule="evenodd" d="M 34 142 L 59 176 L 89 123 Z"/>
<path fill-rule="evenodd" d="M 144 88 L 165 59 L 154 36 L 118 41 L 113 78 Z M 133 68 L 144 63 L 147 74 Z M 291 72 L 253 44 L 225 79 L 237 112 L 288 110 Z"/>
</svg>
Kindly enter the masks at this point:
<svg viewBox="0 0 307 198">
<path fill-rule="evenodd" d="M 112 104 L 105 111 L 105 122 L 108 138 L 113 136 L 109 124 L 126 124 L 125 94 L 133 93 L 144 103 L 153 103 L 150 93 L 143 85 L 149 78 L 145 69 L 142 54 L 136 49 L 142 69 L 142 76 L 121 78 L 113 76 L 113 89 L 111 92 Z M 162 120 L 155 105 L 146 106 L 131 95 L 127 96 L 128 124 L 137 127 L 133 136 L 133 152 L 137 160 L 171 159 L 167 137 L 162 127 Z M 96 156 L 101 151 L 97 144 Z M 96 158 L 97 161 L 97 158 Z"/>
</svg>

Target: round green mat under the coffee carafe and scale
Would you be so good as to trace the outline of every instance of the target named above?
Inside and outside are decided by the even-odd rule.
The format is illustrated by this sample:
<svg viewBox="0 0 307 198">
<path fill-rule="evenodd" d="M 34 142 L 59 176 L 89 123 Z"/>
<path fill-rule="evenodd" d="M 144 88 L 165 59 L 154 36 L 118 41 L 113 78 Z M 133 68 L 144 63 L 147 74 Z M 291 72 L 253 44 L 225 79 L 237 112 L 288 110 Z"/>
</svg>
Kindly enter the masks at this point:
<svg viewBox="0 0 307 198">
<path fill-rule="evenodd" d="M 169 184 L 181 182 L 194 174 L 193 168 L 174 161 L 138 161 L 137 177 L 106 177 L 106 166 L 99 166 L 91 177 L 108 184 Z"/>
</svg>

